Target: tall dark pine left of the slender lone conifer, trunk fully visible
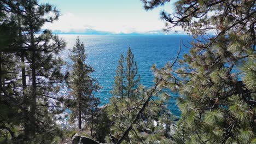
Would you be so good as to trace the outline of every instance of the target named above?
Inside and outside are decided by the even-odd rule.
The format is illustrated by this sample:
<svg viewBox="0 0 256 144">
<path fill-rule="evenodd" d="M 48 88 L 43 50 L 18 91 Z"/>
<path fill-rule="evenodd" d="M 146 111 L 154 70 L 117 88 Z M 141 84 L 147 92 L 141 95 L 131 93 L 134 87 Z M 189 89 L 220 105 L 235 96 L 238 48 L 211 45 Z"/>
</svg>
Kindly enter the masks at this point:
<svg viewBox="0 0 256 144">
<path fill-rule="evenodd" d="M 38 4 L 37 1 L 26 1 L 21 4 L 24 7 L 22 10 L 26 11 L 22 14 L 25 19 L 22 28 L 28 38 L 26 43 L 30 43 L 27 45 L 26 60 L 29 68 L 27 75 L 30 76 L 28 81 L 31 85 L 27 91 L 31 94 L 28 98 L 30 131 L 31 136 L 34 137 L 36 133 L 42 133 L 40 131 L 45 133 L 48 129 L 53 129 L 49 125 L 54 124 L 51 113 L 58 113 L 56 110 L 60 110 L 59 101 L 55 101 L 59 96 L 55 94 L 59 91 L 57 84 L 63 82 L 63 75 L 60 72 L 63 62 L 57 55 L 65 47 L 65 41 L 59 39 L 57 35 L 52 35 L 48 30 L 36 36 L 45 22 L 53 22 L 58 18 L 59 11 L 52 5 Z M 54 15 L 49 17 L 49 13 Z M 40 125 L 49 125 L 49 127 Z"/>
</svg>

